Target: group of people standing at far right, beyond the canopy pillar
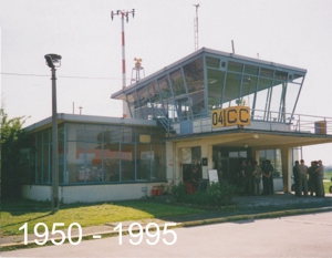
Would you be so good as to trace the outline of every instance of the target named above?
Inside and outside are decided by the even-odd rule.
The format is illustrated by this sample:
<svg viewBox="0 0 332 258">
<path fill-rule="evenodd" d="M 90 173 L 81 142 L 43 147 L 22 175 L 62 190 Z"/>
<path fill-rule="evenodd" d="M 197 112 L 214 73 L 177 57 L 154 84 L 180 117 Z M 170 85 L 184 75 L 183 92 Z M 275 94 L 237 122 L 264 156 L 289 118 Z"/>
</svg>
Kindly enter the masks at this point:
<svg viewBox="0 0 332 258">
<path fill-rule="evenodd" d="M 304 196 L 308 196 L 308 193 L 310 192 L 310 195 L 313 196 L 315 194 L 317 197 L 324 197 L 324 185 L 323 185 L 323 178 L 324 178 L 324 166 L 322 161 L 313 161 L 311 162 L 311 166 L 308 167 L 304 165 L 304 161 L 301 159 L 295 162 L 295 165 L 293 166 L 293 176 L 295 182 L 295 195 L 302 196 L 302 193 Z M 308 179 L 309 175 L 309 179 Z"/>
</svg>

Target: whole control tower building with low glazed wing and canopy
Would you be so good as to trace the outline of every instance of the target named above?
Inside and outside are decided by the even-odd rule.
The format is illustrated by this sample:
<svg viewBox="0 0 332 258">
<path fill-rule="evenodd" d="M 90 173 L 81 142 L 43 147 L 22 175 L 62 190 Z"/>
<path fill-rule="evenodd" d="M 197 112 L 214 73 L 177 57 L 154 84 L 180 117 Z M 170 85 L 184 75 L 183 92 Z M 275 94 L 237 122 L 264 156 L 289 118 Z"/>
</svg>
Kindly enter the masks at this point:
<svg viewBox="0 0 332 258">
<path fill-rule="evenodd" d="M 295 112 L 307 70 L 203 48 L 112 94 L 126 117 L 58 114 L 63 203 L 168 192 L 193 167 L 238 184 L 242 159 L 271 161 L 276 190 L 291 190 L 302 146 L 332 143 L 332 117 Z M 51 199 L 52 118 L 25 128 L 23 197 Z"/>
</svg>

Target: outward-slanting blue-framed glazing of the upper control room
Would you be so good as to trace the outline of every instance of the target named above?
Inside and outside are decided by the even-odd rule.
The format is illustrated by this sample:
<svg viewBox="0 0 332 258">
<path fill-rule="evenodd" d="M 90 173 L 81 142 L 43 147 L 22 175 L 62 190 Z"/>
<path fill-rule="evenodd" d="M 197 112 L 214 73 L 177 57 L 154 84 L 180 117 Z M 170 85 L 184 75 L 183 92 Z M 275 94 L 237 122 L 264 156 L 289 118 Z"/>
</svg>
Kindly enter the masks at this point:
<svg viewBox="0 0 332 258">
<path fill-rule="evenodd" d="M 214 109 L 246 105 L 251 120 L 287 123 L 305 72 L 204 50 L 112 97 L 126 99 L 134 118 L 164 116 L 181 122 L 209 116 Z"/>
</svg>

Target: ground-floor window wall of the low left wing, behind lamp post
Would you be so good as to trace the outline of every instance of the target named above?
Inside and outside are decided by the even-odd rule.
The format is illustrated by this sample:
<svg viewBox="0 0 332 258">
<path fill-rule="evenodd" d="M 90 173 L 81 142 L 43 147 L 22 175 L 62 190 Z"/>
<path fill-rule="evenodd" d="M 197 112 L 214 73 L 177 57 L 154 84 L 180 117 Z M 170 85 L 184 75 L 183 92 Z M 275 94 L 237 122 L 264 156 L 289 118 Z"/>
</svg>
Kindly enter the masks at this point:
<svg viewBox="0 0 332 258">
<path fill-rule="evenodd" d="M 164 130 L 65 122 L 59 126 L 60 184 L 166 180 Z M 52 130 L 31 135 L 30 184 L 52 183 Z"/>
</svg>

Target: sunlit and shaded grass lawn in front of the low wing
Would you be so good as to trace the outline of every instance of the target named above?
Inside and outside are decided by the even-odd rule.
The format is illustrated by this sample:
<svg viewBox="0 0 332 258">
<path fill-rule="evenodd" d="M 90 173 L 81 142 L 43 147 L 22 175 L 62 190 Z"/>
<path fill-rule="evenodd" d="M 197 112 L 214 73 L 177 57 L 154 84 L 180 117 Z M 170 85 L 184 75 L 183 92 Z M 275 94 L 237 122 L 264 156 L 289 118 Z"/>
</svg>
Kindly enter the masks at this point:
<svg viewBox="0 0 332 258">
<path fill-rule="evenodd" d="M 165 218 L 168 216 L 181 216 L 200 214 L 205 210 L 162 204 L 149 200 L 128 200 L 103 204 L 71 204 L 62 205 L 60 210 L 51 214 L 51 204 L 32 200 L 18 200 L 1 204 L 1 235 L 22 235 L 19 228 L 28 223 L 28 233 L 33 233 L 38 223 L 48 225 L 52 229 L 54 223 L 64 223 L 68 228 L 72 223 L 79 223 L 81 227 L 104 225 L 112 221 L 126 221 L 151 218 Z M 43 227 L 40 227 L 41 230 Z M 61 227 L 59 227 L 60 229 Z"/>
</svg>

